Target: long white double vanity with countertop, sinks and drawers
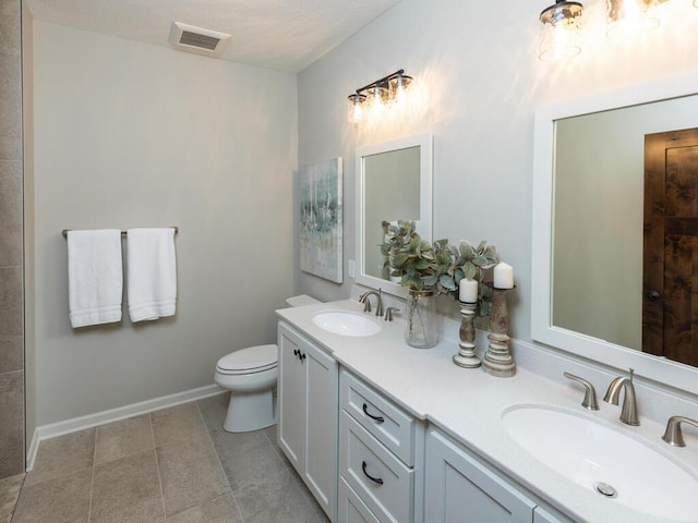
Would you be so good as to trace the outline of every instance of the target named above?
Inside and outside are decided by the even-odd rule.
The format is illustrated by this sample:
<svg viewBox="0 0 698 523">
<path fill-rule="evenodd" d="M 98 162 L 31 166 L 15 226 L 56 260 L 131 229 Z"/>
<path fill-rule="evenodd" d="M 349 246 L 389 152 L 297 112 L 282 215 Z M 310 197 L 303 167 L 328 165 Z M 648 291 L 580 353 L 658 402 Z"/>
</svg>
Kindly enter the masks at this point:
<svg viewBox="0 0 698 523">
<path fill-rule="evenodd" d="M 619 406 L 581 406 L 559 372 L 579 363 L 524 344 L 496 378 L 452 363 L 458 323 L 419 350 L 399 315 L 362 308 L 277 311 L 279 446 L 332 521 L 698 522 L 698 437 L 663 442 L 646 391 L 631 427 Z"/>
</svg>

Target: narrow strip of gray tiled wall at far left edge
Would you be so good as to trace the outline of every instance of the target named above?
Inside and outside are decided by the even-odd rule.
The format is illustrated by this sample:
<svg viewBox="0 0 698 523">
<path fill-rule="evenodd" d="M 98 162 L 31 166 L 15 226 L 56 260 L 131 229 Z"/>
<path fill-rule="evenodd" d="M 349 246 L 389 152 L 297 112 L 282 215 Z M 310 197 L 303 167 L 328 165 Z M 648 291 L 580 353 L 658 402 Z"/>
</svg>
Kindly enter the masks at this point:
<svg viewBox="0 0 698 523">
<path fill-rule="evenodd" d="M 0 0 L 0 478 L 24 472 L 21 0 Z"/>
</svg>

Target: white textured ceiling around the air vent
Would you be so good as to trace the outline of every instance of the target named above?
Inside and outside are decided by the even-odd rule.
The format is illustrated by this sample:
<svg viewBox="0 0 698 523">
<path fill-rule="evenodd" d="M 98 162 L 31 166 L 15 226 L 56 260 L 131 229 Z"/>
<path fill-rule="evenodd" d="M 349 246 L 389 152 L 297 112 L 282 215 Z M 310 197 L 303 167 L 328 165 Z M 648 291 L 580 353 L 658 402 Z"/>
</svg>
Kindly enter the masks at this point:
<svg viewBox="0 0 698 523">
<path fill-rule="evenodd" d="M 169 46 L 172 22 L 232 35 L 224 60 L 299 72 L 399 0 L 27 0 L 35 19 Z"/>
</svg>

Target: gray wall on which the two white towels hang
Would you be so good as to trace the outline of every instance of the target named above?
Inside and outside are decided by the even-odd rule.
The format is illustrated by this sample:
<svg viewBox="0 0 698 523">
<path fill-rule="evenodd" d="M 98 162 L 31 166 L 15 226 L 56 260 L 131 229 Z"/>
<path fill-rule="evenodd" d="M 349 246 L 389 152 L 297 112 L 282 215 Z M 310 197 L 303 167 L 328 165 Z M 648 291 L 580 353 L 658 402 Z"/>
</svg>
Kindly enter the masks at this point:
<svg viewBox="0 0 698 523">
<path fill-rule="evenodd" d="M 34 22 L 37 425 L 213 384 L 292 292 L 297 80 Z M 73 330 L 62 229 L 178 226 L 170 319 Z"/>
</svg>

